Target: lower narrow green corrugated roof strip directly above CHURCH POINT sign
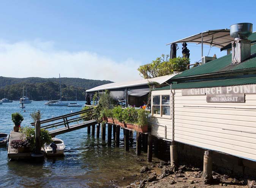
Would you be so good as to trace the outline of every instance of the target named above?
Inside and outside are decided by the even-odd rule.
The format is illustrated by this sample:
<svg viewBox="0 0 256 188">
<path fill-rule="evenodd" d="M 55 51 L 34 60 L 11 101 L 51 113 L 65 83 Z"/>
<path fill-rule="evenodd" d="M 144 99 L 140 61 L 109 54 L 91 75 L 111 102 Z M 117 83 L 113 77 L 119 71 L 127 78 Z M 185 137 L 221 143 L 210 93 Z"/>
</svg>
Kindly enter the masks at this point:
<svg viewBox="0 0 256 188">
<path fill-rule="evenodd" d="M 224 87 L 231 85 L 245 85 L 256 84 L 256 77 L 248 78 L 235 78 L 225 80 L 201 81 L 201 82 L 184 82 L 172 84 L 173 89 L 186 89 L 186 88 L 204 88 L 204 87 Z M 170 86 L 155 88 L 154 90 L 169 90 Z"/>
</svg>

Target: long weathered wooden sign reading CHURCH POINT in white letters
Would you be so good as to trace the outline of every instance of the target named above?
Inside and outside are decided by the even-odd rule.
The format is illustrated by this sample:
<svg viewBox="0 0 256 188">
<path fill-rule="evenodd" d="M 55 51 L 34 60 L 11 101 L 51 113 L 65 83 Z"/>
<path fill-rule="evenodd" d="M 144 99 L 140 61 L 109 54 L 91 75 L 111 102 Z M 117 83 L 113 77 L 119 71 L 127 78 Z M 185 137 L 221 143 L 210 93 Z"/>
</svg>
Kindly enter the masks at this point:
<svg viewBox="0 0 256 188">
<path fill-rule="evenodd" d="M 182 95 L 218 95 L 256 93 L 256 84 L 236 85 L 228 87 L 182 89 Z"/>
</svg>

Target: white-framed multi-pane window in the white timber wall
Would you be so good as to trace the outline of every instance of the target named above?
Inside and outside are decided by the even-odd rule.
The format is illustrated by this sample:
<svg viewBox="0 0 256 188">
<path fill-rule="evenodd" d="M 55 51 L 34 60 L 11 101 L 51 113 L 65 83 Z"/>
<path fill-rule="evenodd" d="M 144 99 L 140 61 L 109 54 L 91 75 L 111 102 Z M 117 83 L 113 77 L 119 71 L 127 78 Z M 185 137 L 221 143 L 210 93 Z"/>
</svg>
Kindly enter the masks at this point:
<svg viewBox="0 0 256 188">
<path fill-rule="evenodd" d="M 156 117 L 170 117 L 170 95 L 153 95 L 152 115 Z"/>
</svg>

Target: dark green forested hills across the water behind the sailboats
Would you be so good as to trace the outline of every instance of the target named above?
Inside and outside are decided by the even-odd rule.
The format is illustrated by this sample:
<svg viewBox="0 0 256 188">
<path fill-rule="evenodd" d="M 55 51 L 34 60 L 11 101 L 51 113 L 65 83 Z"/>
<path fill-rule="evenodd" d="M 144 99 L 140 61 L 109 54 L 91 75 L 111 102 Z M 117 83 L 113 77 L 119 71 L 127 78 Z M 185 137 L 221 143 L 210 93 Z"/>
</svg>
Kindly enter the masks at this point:
<svg viewBox="0 0 256 188">
<path fill-rule="evenodd" d="M 111 81 L 89 80 L 81 78 L 61 78 L 63 100 L 85 100 L 85 90 L 98 85 L 109 84 Z M 58 100 L 60 87 L 58 78 L 11 78 L 0 77 L 0 99 L 18 100 L 23 95 L 23 87 L 27 90 L 30 100 Z"/>
</svg>

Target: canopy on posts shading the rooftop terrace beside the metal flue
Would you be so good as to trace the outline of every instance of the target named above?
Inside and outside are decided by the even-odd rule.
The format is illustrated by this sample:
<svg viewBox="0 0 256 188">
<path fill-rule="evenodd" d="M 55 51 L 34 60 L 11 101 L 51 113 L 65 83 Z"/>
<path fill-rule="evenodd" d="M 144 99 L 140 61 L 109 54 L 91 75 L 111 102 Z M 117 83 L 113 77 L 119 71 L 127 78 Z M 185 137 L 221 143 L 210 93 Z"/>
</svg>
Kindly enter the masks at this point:
<svg viewBox="0 0 256 188">
<path fill-rule="evenodd" d="M 208 44 L 210 46 L 222 48 L 227 44 L 231 43 L 231 41 L 233 40 L 234 38 L 230 36 L 230 30 L 225 28 L 225 29 L 218 29 L 218 30 L 208 30 L 193 36 L 189 36 L 187 38 L 180 39 L 178 41 L 174 41 L 172 43 L 185 42 L 185 43 L 201 44 L 203 41 L 203 44 Z M 169 45 L 172 43 L 168 43 L 166 45 Z"/>
</svg>

